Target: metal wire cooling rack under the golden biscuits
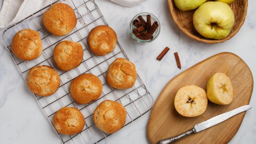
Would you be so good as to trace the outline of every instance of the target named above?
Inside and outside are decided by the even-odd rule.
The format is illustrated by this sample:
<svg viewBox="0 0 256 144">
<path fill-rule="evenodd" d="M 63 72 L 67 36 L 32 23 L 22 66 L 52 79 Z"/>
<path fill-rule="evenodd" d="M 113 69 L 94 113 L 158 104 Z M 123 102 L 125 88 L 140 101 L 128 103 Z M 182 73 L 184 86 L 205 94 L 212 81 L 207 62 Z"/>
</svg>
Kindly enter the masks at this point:
<svg viewBox="0 0 256 144">
<path fill-rule="evenodd" d="M 71 6 L 76 13 L 78 21 L 77 25 L 65 36 L 54 36 L 45 29 L 42 23 L 42 14 L 55 3 L 66 3 Z M 90 51 L 87 42 L 90 30 L 97 25 L 108 25 L 94 0 L 58 0 L 52 4 L 7 28 L 3 32 L 3 40 L 14 62 L 20 70 L 20 73 L 22 76 L 24 76 L 26 81 L 30 68 L 38 65 L 48 65 L 56 70 L 59 74 L 61 83 L 57 92 L 49 97 L 40 97 L 34 94 L 38 104 L 41 106 L 45 116 L 52 126 L 53 115 L 61 107 L 76 107 L 83 113 L 85 118 L 85 126 L 81 133 L 75 135 L 63 135 L 58 133 L 53 126 L 62 142 L 67 144 L 98 143 L 110 135 L 98 129 L 93 122 L 93 112 L 102 101 L 108 99 L 122 103 L 127 111 L 126 123 L 124 125 L 127 126 L 134 120 L 147 113 L 153 107 L 154 99 L 148 92 L 145 84 L 142 82 L 138 74 L 134 86 L 130 89 L 117 90 L 108 84 L 106 80 L 108 66 L 118 57 L 126 59 L 128 59 L 128 57 L 118 41 L 114 51 L 105 56 L 97 56 Z M 39 32 L 43 42 L 43 54 L 39 58 L 32 61 L 22 61 L 18 59 L 11 51 L 13 36 L 16 32 L 25 28 L 34 29 Z M 82 63 L 79 67 L 70 71 L 62 71 L 57 68 L 57 65 L 53 59 L 54 47 L 63 40 L 79 42 L 84 48 L 84 57 Z M 76 76 L 83 73 L 92 73 L 98 76 L 103 83 L 103 91 L 100 98 L 85 105 L 76 103 L 70 96 L 69 91 L 70 82 Z"/>
</svg>

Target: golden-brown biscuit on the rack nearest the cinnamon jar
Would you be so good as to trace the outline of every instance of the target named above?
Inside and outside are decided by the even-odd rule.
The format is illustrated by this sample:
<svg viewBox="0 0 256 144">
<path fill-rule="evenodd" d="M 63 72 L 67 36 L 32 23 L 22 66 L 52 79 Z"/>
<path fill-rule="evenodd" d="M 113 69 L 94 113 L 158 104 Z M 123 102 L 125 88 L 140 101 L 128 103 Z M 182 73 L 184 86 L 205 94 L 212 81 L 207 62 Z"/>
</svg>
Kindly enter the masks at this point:
<svg viewBox="0 0 256 144">
<path fill-rule="evenodd" d="M 107 25 L 94 27 L 88 36 L 89 47 L 99 56 L 111 53 L 116 47 L 116 42 L 116 32 Z"/>
</svg>

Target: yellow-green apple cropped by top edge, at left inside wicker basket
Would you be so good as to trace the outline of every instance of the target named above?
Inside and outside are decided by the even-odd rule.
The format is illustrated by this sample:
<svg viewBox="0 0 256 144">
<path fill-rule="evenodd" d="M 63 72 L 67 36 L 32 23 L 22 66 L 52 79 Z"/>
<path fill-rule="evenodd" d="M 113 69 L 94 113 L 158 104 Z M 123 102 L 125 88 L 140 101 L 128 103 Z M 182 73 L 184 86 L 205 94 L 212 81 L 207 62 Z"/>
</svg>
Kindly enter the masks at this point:
<svg viewBox="0 0 256 144">
<path fill-rule="evenodd" d="M 204 4 L 206 0 L 174 0 L 175 5 L 181 11 L 189 11 L 198 8 L 201 4 Z"/>
</svg>

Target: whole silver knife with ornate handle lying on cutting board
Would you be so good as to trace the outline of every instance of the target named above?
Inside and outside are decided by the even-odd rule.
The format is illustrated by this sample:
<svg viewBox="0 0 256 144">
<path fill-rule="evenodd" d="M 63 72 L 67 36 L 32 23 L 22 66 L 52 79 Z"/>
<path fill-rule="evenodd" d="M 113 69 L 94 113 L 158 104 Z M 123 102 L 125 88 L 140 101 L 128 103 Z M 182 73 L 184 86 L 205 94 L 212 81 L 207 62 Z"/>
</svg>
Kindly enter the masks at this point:
<svg viewBox="0 0 256 144">
<path fill-rule="evenodd" d="M 198 133 L 200 131 L 203 131 L 209 127 L 212 127 L 214 125 L 217 125 L 231 117 L 233 117 L 234 115 L 238 114 L 238 113 L 241 113 L 241 112 L 244 112 L 244 111 L 247 111 L 249 109 L 251 109 L 252 106 L 251 105 L 244 105 L 244 106 L 241 106 L 237 109 L 234 109 L 232 111 L 229 111 L 229 112 L 226 112 L 226 113 L 223 113 L 223 114 L 220 114 L 218 116 L 215 116 L 211 119 L 208 119 L 200 124 L 197 124 L 194 128 L 192 128 L 191 130 L 188 130 L 187 132 L 185 133 L 181 133 L 179 135 L 176 135 L 174 137 L 171 137 L 171 138 L 167 138 L 167 139 L 164 139 L 164 140 L 160 140 L 158 141 L 156 144 L 172 144 L 174 142 L 176 142 L 177 140 L 180 140 L 186 136 L 189 136 L 193 133 Z"/>
</svg>

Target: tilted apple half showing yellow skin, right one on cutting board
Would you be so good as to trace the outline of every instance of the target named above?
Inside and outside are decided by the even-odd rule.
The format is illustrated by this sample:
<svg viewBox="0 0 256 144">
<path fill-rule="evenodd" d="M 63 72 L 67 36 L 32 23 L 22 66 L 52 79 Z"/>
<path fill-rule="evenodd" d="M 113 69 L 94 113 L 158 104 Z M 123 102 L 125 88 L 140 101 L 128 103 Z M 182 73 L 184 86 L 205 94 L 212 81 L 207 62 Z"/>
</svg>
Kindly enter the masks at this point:
<svg viewBox="0 0 256 144">
<path fill-rule="evenodd" d="M 229 77 L 224 73 L 212 75 L 207 83 L 207 97 L 215 103 L 230 104 L 234 98 L 234 88 Z"/>
</svg>

